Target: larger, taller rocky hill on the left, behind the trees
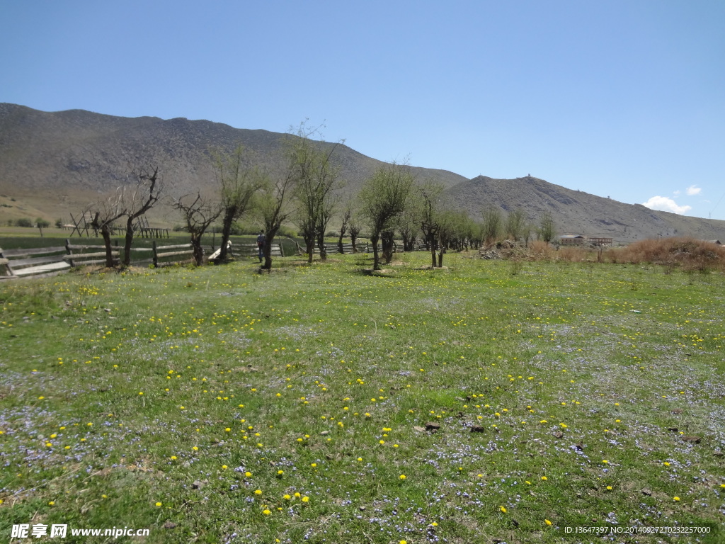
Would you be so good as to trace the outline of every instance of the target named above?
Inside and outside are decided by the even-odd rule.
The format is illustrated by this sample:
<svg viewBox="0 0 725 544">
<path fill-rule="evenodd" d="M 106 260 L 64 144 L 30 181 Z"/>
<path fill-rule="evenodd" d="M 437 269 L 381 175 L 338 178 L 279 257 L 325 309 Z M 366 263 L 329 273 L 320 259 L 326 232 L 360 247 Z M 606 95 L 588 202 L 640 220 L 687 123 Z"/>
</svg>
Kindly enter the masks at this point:
<svg viewBox="0 0 725 544">
<path fill-rule="evenodd" d="M 84 110 L 41 112 L 0 104 L 0 204 L 13 206 L 1 207 L 0 213 L 41 215 L 51 221 L 70 218 L 144 165 L 159 166 L 167 195 L 214 190 L 210 149 L 231 150 L 242 144 L 250 162 L 274 171 L 284 162 L 283 136 L 205 120 L 120 118 Z M 334 157 L 347 181 L 347 194 L 354 194 L 381 165 L 344 145 Z M 446 170 L 413 170 L 418 178 L 435 178 L 446 186 L 465 181 Z M 171 221 L 178 222 L 175 217 Z"/>
</svg>

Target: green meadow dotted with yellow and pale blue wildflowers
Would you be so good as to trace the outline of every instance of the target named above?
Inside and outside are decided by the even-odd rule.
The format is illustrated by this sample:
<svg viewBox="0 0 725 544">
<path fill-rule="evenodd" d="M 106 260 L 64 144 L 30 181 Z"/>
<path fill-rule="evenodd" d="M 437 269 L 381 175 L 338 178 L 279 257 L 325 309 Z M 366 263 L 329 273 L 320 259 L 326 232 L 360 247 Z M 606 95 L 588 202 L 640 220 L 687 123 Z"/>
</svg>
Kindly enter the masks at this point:
<svg viewBox="0 0 725 544">
<path fill-rule="evenodd" d="M 724 542 L 722 274 L 367 258 L 0 284 L 2 538 Z"/>
</svg>

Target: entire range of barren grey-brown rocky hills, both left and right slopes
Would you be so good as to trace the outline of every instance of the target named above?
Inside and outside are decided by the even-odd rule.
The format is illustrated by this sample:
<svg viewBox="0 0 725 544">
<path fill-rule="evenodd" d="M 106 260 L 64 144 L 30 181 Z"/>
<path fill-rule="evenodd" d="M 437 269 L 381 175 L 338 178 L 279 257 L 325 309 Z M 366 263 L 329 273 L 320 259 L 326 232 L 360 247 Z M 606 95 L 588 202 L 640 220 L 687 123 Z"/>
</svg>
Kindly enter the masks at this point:
<svg viewBox="0 0 725 544">
<path fill-rule="evenodd" d="M 159 167 L 169 197 L 213 191 L 210 149 L 231 150 L 242 144 L 250 162 L 275 171 L 284 164 L 283 136 L 205 120 L 121 118 L 84 110 L 41 112 L 0 104 L 0 223 L 21 217 L 70 221 L 71 213 L 77 215 L 124 184 L 131 170 L 149 165 Z M 347 180 L 348 196 L 381 165 L 344 145 L 335 157 Z M 447 170 L 413 170 L 420 181 L 441 181 L 449 188 L 452 204 L 474 218 L 494 205 L 504 211 L 521 208 L 534 223 L 548 211 L 560 234 L 598 234 L 623 242 L 672 235 L 725 238 L 725 221 L 656 212 L 531 176 L 468 180 Z M 151 219 L 159 226 L 180 222 L 168 208 L 154 210 Z"/>
</svg>

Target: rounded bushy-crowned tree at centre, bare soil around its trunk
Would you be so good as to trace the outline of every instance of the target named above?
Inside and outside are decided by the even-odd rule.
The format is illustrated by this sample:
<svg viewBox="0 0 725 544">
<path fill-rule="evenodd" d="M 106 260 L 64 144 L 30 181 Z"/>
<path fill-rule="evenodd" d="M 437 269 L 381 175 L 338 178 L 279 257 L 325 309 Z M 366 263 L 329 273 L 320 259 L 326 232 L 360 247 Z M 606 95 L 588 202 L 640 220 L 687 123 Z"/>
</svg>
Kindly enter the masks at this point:
<svg viewBox="0 0 725 544">
<path fill-rule="evenodd" d="M 395 163 L 383 165 L 368 178 L 360 189 L 363 202 L 361 213 L 370 228 L 370 243 L 373 245 L 373 270 L 380 270 L 378 241 L 381 232 L 394 226 L 413 186 L 413 174 L 406 165 Z"/>
</svg>

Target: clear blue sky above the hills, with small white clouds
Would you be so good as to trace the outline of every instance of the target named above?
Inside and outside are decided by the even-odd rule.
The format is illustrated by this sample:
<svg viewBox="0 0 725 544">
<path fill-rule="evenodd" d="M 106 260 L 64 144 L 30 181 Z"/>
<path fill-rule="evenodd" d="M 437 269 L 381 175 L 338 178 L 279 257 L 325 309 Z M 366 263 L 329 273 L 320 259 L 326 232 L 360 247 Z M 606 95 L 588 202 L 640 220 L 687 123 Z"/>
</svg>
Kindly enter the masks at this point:
<svg viewBox="0 0 725 544">
<path fill-rule="evenodd" d="M 725 1 L 0 0 L 0 102 L 284 132 L 725 219 Z"/>
</svg>

